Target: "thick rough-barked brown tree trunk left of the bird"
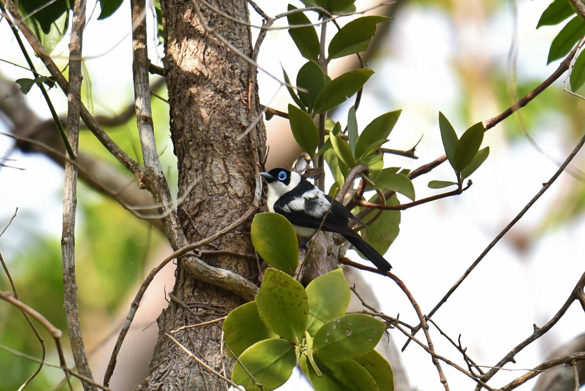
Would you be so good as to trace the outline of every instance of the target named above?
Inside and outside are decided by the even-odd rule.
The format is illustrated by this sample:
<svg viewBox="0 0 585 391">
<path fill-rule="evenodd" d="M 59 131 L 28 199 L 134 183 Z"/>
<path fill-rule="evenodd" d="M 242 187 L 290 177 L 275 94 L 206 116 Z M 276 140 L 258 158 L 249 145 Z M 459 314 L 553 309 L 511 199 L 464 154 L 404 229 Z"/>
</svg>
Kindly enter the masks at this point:
<svg viewBox="0 0 585 391">
<path fill-rule="evenodd" d="M 217 0 L 214 5 L 249 20 L 245 0 Z M 250 207 L 256 173 L 263 160 L 266 131 L 262 121 L 237 141 L 260 114 L 257 91 L 249 102 L 250 65 L 206 33 L 190 1 L 161 2 L 165 34 L 164 66 L 170 104 L 170 132 L 177 156 L 179 191 L 185 194 L 178 215 L 189 242 L 226 227 Z M 247 56 L 252 54 L 247 26 L 201 5 L 204 20 Z M 163 131 L 159 129 L 159 132 Z M 208 249 L 253 253 L 250 221 L 219 238 Z M 257 279 L 256 260 L 214 256 L 206 262 Z M 223 380 L 189 358 L 165 333 L 185 324 L 223 317 L 243 303 L 229 291 L 194 280 L 178 261 L 170 304 L 160 315 L 159 340 L 150 373 L 139 389 L 225 390 Z M 221 322 L 173 334 L 192 354 L 221 372 Z M 228 377 L 232 363 L 225 362 Z"/>
</svg>

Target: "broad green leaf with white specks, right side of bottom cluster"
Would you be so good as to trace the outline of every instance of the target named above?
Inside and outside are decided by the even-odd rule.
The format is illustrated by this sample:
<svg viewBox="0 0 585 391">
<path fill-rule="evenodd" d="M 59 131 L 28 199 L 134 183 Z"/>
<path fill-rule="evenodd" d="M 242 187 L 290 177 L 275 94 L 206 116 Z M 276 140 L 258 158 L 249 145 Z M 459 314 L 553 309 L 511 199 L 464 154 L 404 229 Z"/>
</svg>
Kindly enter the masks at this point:
<svg viewBox="0 0 585 391">
<path fill-rule="evenodd" d="M 313 351 L 321 361 L 348 361 L 376 347 L 384 330 L 384 323 L 373 316 L 342 315 L 319 328 L 313 338 Z"/>
</svg>

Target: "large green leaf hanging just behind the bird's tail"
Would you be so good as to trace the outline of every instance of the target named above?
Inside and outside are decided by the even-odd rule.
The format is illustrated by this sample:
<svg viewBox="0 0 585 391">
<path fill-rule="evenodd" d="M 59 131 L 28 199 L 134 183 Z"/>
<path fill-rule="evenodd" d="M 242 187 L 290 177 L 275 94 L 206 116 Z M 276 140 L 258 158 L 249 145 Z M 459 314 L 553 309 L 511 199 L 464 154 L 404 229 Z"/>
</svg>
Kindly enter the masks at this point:
<svg viewBox="0 0 585 391">
<path fill-rule="evenodd" d="M 376 198 L 377 195 L 374 194 L 369 201 L 373 202 Z M 396 194 L 386 200 L 386 205 L 400 205 Z M 370 216 L 374 217 L 374 213 Z M 388 248 L 390 248 L 390 245 L 394 242 L 394 239 L 396 239 L 400 233 L 400 211 L 382 212 L 380 218 L 378 218 L 368 227 L 362 229 L 360 233 L 362 238 L 368 242 L 370 246 L 383 255 L 388 251 Z M 362 254 L 360 254 L 360 256 L 364 258 Z"/>
</svg>

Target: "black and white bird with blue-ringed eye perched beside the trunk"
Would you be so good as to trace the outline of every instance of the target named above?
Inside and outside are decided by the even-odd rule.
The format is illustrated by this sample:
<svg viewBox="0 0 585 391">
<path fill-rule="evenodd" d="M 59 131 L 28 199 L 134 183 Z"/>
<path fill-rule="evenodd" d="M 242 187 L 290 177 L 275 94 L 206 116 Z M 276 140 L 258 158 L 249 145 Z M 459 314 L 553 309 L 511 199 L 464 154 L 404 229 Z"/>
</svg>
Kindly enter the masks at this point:
<svg viewBox="0 0 585 391">
<path fill-rule="evenodd" d="M 323 231 L 337 232 L 347 239 L 381 272 L 388 272 L 392 266 L 357 232 L 349 227 L 349 219 L 362 224 L 343 204 L 323 193 L 311 182 L 301 179 L 300 174 L 287 169 L 276 168 L 260 173 L 268 183 L 267 206 L 269 211 L 283 215 L 291 222 L 298 235 L 310 238 L 327 217 Z"/>
</svg>

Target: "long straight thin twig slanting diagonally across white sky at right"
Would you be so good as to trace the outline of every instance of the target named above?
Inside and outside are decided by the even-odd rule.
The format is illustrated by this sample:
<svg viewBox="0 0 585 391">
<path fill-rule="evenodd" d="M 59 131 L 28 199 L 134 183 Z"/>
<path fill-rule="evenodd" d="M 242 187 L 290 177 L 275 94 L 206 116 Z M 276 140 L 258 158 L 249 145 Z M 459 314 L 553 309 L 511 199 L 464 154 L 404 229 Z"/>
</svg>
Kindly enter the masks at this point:
<svg viewBox="0 0 585 391">
<path fill-rule="evenodd" d="M 550 177 L 550 179 L 546 183 L 543 184 L 541 190 L 539 190 L 538 193 L 536 193 L 536 195 L 534 197 L 532 197 L 532 200 L 530 200 L 528 202 L 528 204 L 526 204 L 526 206 L 524 208 L 522 208 L 522 210 L 518 213 L 518 215 L 516 215 L 516 217 L 514 217 L 512 219 L 512 221 L 510 221 L 510 223 L 508 225 L 506 225 L 506 227 L 497 236 L 495 236 L 494 240 L 491 241 L 490 244 L 487 245 L 486 249 L 484 249 L 484 251 L 481 252 L 479 257 L 477 257 L 477 259 L 472 263 L 472 265 L 469 266 L 467 268 L 467 270 L 465 270 L 463 275 L 461 277 L 459 277 L 459 280 L 457 280 L 457 282 L 451 287 L 451 289 L 449 289 L 449 291 L 445 294 L 445 296 L 443 296 L 443 298 L 439 301 L 439 303 L 437 303 L 436 306 L 433 307 L 431 312 L 428 314 L 429 318 L 432 317 L 432 315 L 435 314 L 439 308 L 441 308 L 441 306 L 447 301 L 447 299 L 449 299 L 449 296 L 451 296 L 451 294 L 457 289 L 457 287 L 459 287 L 459 285 L 463 282 L 463 280 L 466 279 L 467 276 L 469 276 L 469 273 L 472 272 L 472 270 L 481 262 L 481 260 L 487 255 L 487 253 L 490 252 L 490 250 L 496 245 L 496 243 L 499 242 L 500 239 L 503 238 L 504 235 L 508 231 L 510 231 L 510 229 L 512 227 L 514 227 L 514 225 L 519 221 L 519 219 L 521 219 L 522 216 L 524 216 L 524 214 L 532 207 L 532 205 L 534 205 L 534 203 L 538 200 L 538 198 L 540 198 L 541 195 L 544 194 L 545 191 L 548 190 L 549 187 L 552 186 L 553 183 L 555 183 L 555 180 L 565 170 L 565 168 L 569 165 L 571 160 L 573 160 L 573 157 L 575 157 L 575 155 L 577 155 L 579 150 L 583 147 L 584 143 L 585 143 L 585 135 L 583 135 L 583 137 L 581 138 L 579 143 L 577 143 L 577 145 L 575 146 L 573 151 L 569 154 L 569 156 L 567 156 L 567 159 L 565 159 L 565 162 L 563 162 L 563 164 L 560 165 L 559 169 L 556 170 L 555 174 L 553 174 L 553 176 Z M 419 325 L 419 327 L 420 327 L 420 325 Z M 417 328 L 417 330 L 414 330 L 414 333 L 416 334 L 418 332 L 418 330 L 419 330 L 419 328 Z M 409 342 L 407 341 L 404 344 L 404 346 L 402 347 L 402 351 L 404 351 L 404 349 L 408 346 L 408 343 Z M 501 365 L 498 365 L 498 366 L 501 366 Z"/>
</svg>

